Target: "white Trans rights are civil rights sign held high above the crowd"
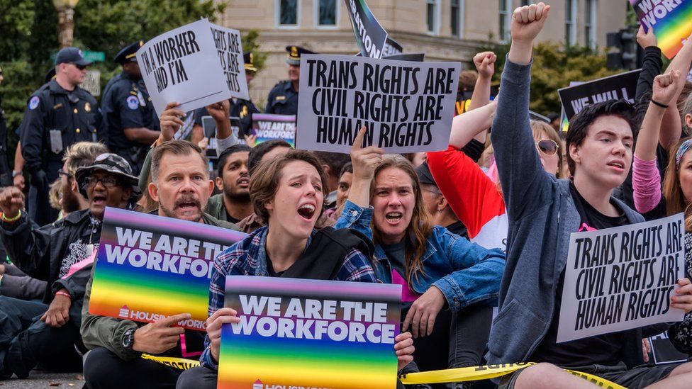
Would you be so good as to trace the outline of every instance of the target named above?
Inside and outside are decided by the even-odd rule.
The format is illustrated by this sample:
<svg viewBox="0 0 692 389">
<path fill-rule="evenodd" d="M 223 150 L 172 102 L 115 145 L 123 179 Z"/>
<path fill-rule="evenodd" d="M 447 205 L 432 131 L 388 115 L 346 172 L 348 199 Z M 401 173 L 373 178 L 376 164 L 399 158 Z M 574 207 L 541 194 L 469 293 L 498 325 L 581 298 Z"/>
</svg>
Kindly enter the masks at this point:
<svg viewBox="0 0 692 389">
<path fill-rule="evenodd" d="M 365 125 L 365 145 L 386 152 L 445 150 L 460 68 L 459 62 L 301 55 L 296 147 L 349 152 Z"/>
</svg>

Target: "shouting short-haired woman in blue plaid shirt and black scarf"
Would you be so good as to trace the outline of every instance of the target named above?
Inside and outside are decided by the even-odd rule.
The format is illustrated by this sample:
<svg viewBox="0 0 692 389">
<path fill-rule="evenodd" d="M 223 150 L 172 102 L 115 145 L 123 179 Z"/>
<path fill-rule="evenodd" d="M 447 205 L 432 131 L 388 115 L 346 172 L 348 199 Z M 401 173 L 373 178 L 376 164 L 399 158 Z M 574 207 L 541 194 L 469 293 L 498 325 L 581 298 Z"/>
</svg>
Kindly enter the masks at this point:
<svg viewBox="0 0 692 389">
<path fill-rule="evenodd" d="M 266 227 L 216 257 L 202 366 L 182 373 L 177 388 L 216 388 L 221 326 L 239 322 L 235 309 L 223 308 L 226 276 L 377 282 L 369 259 L 372 243 L 366 237 L 347 229 L 315 229 L 326 194 L 326 175 L 311 152 L 291 150 L 257 165 L 250 197 Z M 402 368 L 411 361 L 411 334 L 395 340 Z"/>
</svg>

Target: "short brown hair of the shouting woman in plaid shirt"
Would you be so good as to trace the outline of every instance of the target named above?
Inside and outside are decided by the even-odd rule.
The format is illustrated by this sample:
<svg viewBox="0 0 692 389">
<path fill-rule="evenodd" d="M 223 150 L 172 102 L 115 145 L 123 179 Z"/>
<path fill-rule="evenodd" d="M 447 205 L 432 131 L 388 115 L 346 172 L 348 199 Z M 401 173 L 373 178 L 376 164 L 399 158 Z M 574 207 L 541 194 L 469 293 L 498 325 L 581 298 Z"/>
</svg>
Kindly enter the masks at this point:
<svg viewBox="0 0 692 389">
<path fill-rule="evenodd" d="M 266 225 L 269 222 L 269 211 L 264 205 L 274 200 L 274 195 L 279 190 L 282 170 L 289 162 L 303 161 L 311 164 L 320 174 L 322 181 L 322 194 L 327 196 L 327 176 L 322 170 L 322 163 L 312 152 L 304 150 L 289 150 L 286 154 L 279 155 L 269 161 L 259 162 L 250 176 L 250 198 L 252 205 L 255 206 L 255 214 Z M 320 216 L 324 210 L 324 202 L 320 211 Z M 318 216 L 319 217 L 319 216 Z"/>
</svg>

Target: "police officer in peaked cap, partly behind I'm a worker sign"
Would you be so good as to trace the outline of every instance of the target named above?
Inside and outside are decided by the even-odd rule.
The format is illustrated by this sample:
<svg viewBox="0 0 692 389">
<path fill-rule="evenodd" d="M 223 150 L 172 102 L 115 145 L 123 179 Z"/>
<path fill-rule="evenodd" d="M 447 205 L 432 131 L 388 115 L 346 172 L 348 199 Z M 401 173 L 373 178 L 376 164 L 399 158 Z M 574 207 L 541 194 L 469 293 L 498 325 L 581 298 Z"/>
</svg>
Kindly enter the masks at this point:
<svg viewBox="0 0 692 389">
<path fill-rule="evenodd" d="M 159 119 L 135 57 L 143 44 L 140 40 L 118 52 L 115 60 L 123 72 L 108 81 L 101 99 L 108 148 L 127 159 L 135 175 L 140 174 L 149 146 L 160 134 Z"/>
</svg>

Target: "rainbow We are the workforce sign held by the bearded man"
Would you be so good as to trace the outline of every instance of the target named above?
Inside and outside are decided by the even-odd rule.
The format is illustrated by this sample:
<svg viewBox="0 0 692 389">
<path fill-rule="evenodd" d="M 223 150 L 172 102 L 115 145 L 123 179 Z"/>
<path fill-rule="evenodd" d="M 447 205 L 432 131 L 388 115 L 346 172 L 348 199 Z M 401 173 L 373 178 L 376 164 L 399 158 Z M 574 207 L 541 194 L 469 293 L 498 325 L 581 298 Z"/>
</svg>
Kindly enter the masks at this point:
<svg viewBox="0 0 692 389">
<path fill-rule="evenodd" d="M 155 322 L 190 313 L 203 331 L 214 258 L 246 235 L 199 222 L 106 208 L 89 313 Z"/>
</svg>

